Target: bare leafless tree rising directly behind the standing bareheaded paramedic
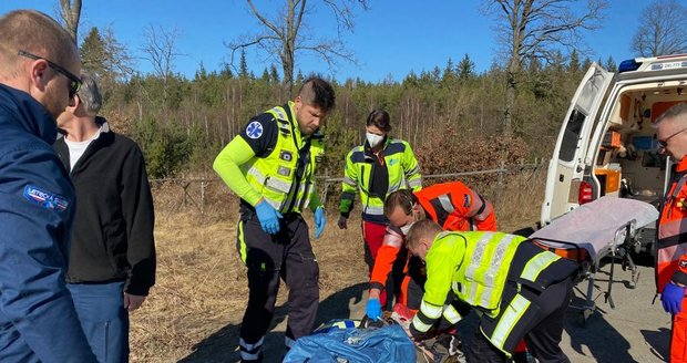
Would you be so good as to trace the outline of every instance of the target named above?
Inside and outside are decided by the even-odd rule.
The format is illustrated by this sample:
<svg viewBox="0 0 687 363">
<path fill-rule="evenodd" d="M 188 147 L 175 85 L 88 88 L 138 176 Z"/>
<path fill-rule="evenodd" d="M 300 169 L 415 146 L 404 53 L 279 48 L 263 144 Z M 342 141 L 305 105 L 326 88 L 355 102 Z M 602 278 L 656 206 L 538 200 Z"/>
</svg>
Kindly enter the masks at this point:
<svg viewBox="0 0 687 363">
<path fill-rule="evenodd" d="M 246 2 L 253 15 L 260 23 L 262 30 L 258 33 L 242 35 L 238 40 L 226 44 L 232 50 L 232 62 L 237 50 L 253 45 L 259 46 L 269 56 L 278 58 L 287 91 L 290 91 L 294 84 L 295 59 L 299 51 L 317 54 L 327 62 L 329 68 L 334 68 L 337 60 L 341 59 L 356 62 L 353 54 L 344 44 L 342 33 L 353 29 L 353 7 L 360 6 L 367 10 L 367 0 L 317 2 L 319 7 L 328 9 L 335 18 L 336 35 L 329 39 L 316 35 L 317 32 L 308 28 L 306 20 L 315 14 L 315 8 L 308 6 L 307 0 L 285 0 L 284 7 L 274 11 L 273 14 L 268 14 L 268 10 L 257 9 L 253 0 L 246 0 Z"/>
</svg>

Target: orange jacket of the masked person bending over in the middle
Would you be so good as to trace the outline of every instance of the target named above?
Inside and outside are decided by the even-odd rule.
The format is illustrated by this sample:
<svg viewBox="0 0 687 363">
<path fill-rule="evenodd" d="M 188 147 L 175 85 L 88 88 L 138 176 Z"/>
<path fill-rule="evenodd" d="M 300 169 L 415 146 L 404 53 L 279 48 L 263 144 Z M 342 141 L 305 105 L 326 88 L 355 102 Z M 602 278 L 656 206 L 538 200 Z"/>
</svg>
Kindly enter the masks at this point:
<svg viewBox="0 0 687 363">
<path fill-rule="evenodd" d="M 413 194 L 427 218 L 438 222 L 444 230 L 496 230 L 496 216 L 492 204 L 460 182 L 437 184 Z M 399 228 L 387 227 L 375 260 L 370 289 L 383 290 L 393 261 L 403 246 L 403 238 Z M 408 257 L 410 258 L 411 256 Z"/>
</svg>

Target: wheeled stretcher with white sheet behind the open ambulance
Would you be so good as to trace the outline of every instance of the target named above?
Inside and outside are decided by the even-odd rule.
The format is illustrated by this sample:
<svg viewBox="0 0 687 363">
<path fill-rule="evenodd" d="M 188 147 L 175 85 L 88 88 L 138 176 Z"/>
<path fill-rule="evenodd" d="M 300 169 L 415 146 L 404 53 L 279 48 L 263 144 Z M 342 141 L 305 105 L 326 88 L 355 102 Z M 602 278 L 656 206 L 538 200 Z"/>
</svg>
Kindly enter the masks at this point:
<svg viewBox="0 0 687 363">
<path fill-rule="evenodd" d="M 583 325 L 596 310 L 594 290 L 602 259 L 611 259 L 608 284 L 603 294 L 605 302 L 615 309 L 611 294 L 615 263 L 621 261 L 623 269 L 630 270 L 627 287 L 634 288 L 639 273 L 629 251 L 638 243 L 637 230 L 654 224 L 657 218 L 658 211 L 648 203 L 602 197 L 568 211 L 530 236 L 535 243 L 580 263 L 576 282 L 587 281 L 585 301 L 571 308 L 582 311 Z"/>
</svg>

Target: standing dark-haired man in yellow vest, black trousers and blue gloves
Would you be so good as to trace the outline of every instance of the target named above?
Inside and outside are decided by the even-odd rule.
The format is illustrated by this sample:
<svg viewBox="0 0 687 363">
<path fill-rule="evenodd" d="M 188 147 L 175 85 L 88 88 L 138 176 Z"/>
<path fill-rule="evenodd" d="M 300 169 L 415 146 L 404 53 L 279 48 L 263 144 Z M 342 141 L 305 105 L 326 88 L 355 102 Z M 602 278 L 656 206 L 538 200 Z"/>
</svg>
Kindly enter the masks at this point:
<svg viewBox="0 0 687 363">
<path fill-rule="evenodd" d="M 279 278 L 289 288 L 286 346 L 312 331 L 319 267 L 301 211 L 314 211 L 318 238 L 325 228 L 315 189 L 315 169 L 324 155 L 318 129 L 334 103 L 329 83 L 306 81 L 294 102 L 252 118 L 213 165 L 240 197 L 237 249 L 248 267 L 249 289 L 238 340 L 243 362 L 263 360 Z"/>
</svg>

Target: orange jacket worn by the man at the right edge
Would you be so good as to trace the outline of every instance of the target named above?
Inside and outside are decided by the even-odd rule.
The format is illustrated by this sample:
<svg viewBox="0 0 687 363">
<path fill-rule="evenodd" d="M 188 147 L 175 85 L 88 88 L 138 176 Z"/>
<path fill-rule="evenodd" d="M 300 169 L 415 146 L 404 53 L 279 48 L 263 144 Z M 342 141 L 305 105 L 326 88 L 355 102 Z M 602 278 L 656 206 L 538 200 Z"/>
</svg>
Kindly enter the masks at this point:
<svg viewBox="0 0 687 363">
<path fill-rule="evenodd" d="M 687 157 L 676 165 L 660 206 L 656 242 L 656 289 L 673 280 L 687 284 Z"/>
</svg>

